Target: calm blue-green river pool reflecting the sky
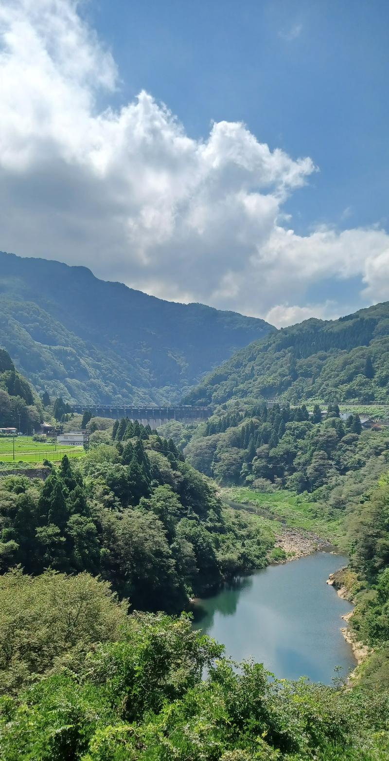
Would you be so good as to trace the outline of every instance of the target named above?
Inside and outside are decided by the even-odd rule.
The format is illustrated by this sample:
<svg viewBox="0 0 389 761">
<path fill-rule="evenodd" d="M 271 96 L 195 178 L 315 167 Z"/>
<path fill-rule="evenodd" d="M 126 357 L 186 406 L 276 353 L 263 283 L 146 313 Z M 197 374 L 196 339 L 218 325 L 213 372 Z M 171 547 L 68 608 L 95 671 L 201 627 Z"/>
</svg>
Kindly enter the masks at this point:
<svg viewBox="0 0 389 761">
<path fill-rule="evenodd" d="M 330 684 L 335 667 L 346 677 L 356 667 L 340 632 L 353 606 L 325 582 L 347 559 L 315 552 L 269 565 L 217 594 L 198 600 L 194 628 L 226 645 L 235 661 L 251 656 L 277 677 Z"/>
</svg>

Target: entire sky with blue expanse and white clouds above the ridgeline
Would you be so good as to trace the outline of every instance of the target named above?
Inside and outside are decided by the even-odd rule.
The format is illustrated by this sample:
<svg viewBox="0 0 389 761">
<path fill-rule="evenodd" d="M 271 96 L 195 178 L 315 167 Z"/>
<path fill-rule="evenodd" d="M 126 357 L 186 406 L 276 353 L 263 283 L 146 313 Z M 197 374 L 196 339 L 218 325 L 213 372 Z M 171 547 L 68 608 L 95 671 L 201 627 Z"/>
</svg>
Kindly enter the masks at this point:
<svg viewBox="0 0 389 761">
<path fill-rule="evenodd" d="M 20 231 L 5 204 L 8 250 L 280 325 L 386 297 L 387 2 L 4 7 L 3 27 L 20 34 L 5 45 L 8 79 L 10 56 L 11 74 L 34 62 L 27 106 L 5 92 L 5 192 L 23 197 L 27 220 Z M 26 110 L 17 148 L 33 161 L 21 168 L 9 156 Z M 21 179 L 39 190 L 31 208 Z"/>
</svg>

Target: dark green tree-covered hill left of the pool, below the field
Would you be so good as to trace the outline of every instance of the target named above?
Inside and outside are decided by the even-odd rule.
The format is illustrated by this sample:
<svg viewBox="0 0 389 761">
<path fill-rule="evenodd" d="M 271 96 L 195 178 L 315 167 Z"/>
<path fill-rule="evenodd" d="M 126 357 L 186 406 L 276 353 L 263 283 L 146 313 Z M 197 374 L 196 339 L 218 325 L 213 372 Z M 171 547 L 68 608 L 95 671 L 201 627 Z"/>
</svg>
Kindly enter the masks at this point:
<svg viewBox="0 0 389 761">
<path fill-rule="evenodd" d="M 0 479 L 2 572 L 89 572 L 133 607 L 180 610 L 191 594 L 266 563 L 273 537 L 259 519 L 229 517 L 171 439 L 127 420 L 114 432 L 79 463 L 65 456 L 45 482 Z"/>
</svg>

